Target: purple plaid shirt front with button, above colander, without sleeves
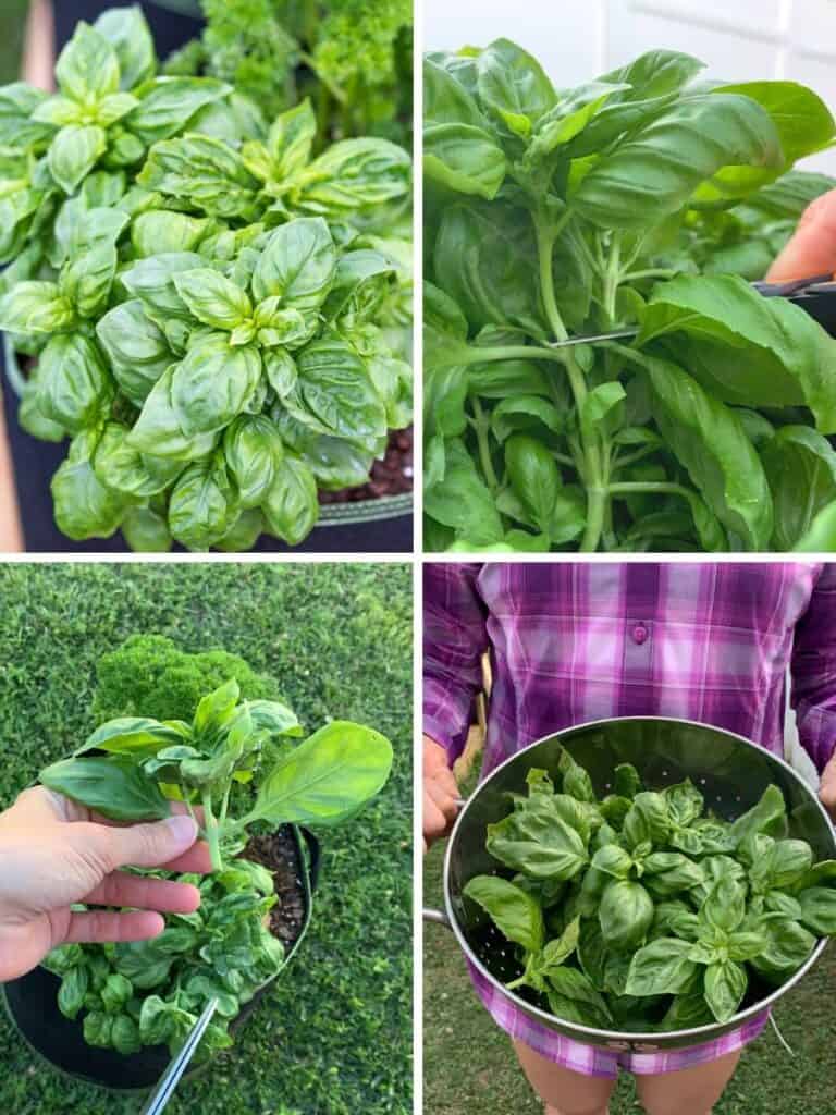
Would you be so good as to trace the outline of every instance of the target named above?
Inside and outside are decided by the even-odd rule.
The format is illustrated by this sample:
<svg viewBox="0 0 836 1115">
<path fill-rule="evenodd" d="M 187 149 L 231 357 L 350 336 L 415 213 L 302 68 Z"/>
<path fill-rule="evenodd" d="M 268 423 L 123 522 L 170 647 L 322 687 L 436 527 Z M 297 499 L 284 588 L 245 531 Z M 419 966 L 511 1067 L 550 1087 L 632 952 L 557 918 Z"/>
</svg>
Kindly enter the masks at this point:
<svg viewBox="0 0 836 1115">
<path fill-rule="evenodd" d="M 493 689 L 483 774 L 573 724 L 671 716 L 780 754 L 810 564 L 486 565 Z"/>
</svg>

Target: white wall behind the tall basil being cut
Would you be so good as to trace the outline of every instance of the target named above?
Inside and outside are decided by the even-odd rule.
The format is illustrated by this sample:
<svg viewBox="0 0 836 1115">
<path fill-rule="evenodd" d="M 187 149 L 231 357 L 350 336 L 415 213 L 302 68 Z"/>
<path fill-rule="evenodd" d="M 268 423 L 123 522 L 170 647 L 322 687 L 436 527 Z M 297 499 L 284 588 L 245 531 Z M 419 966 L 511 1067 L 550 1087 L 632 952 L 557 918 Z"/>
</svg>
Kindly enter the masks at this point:
<svg viewBox="0 0 836 1115">
<path fill-rule="evenodd" d="M 836 114 L 836 0 L 424 0 L 427 50 L 500 36 L 558 87 L 668 47 L 702 59 L 709 77 L 803 81 Z M 836 175 L 836 149 L 804 165 Z"/>
</svg>

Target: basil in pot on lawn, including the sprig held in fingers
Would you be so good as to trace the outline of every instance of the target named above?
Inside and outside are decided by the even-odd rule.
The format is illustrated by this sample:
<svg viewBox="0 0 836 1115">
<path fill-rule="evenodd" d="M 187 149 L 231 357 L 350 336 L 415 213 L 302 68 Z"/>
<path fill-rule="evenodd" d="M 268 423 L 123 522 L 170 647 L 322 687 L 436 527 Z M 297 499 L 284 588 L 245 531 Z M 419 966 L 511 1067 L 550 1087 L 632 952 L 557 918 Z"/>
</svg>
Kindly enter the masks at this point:
<svg viewBox="0 0 836 1115">
<path fill-rule="evenodd" d="M 201 891 L 200 909 L 167 914 L 158 937 L 65 944 L 43 961 L 61 978 L 61 1012 L 82 1012 L 89 1045 L 127 1055 L 166 1044 L 174 1053 L 213 996 L 216 1020 L 201 1055 L 232 1044 L 229 1021 L 285 960 L 268 925 L 273 876 L 246 859 L 250 836 L 291 823 L 340 824 L 381 789 L 391 767 L 391 745 L 371 728 L 336 720 L 300 743 L 302 734 L 288 707 L 241 704 L 230 681 L 203 698 L 192 724 L 109 720 L 72 758 L 41 772 L 42 785 L 118 822 L 159 820 L 184 803 L 212 855 L 206 876 L 142 872 Z"/>
</svg>

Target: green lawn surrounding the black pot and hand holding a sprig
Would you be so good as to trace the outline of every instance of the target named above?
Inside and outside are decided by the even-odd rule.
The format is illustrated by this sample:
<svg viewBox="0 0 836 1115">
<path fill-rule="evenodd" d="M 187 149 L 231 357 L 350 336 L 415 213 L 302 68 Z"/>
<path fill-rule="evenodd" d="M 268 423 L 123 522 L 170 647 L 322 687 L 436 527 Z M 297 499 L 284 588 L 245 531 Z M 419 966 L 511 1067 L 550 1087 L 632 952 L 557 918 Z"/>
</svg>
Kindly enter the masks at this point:
<svg viewBox="0 0 836 1115">
<path fill-rule="evenodd" d="M 411 571 L 406 565 L 0 566 L 0 802 L 93 727 L 95 663 L 134 631 L 223 647 L 278 678 L 311 728 L 360 720 L 392 740 L 392 777 L 322 832 L 309 935 L 235 1047 L 173 1115 L 411 1112 Z M 0 1108 L 135 1115 L 36 1060 L 0 1019 Z"/>
</svg>

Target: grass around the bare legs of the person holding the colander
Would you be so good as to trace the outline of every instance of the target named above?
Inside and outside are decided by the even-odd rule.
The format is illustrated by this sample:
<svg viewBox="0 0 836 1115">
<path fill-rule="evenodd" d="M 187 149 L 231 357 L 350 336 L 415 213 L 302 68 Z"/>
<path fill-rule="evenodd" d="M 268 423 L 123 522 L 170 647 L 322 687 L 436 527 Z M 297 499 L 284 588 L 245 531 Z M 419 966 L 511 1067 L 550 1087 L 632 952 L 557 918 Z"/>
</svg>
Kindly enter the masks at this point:
<svg viewBox="0 0 836 1115">
<path fill-rule="evenodd" d="M 426 857 L 425 904 L 441 903 L 444 847 Z M 747 1046 L 715 1115 L 832 1115 L 836 1109 L 836 948 L 774 1011 L 795 1053 L 771 1027 Z M 543 1107 L 523 1076 L 505 1032 L 473 991 L 461 952 L 440 925 L 425 928 L 424 1106 L 432 1115 L 536 1115 Z M 641 1112 L 631 1076 L 622 1074 L 611 1115 Z"/>
</svg>

